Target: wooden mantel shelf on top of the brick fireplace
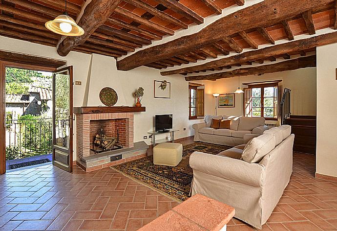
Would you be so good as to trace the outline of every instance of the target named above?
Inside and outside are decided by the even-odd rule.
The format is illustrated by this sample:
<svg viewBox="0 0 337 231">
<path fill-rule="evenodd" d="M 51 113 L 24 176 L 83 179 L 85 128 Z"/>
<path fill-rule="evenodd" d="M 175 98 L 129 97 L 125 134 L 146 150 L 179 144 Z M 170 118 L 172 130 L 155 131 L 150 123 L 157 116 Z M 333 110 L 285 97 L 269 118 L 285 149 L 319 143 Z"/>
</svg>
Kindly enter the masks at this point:
<svg viewBox="0 0 337 231">
<path fill-rule="evenodd" d="M 145 107 L 74 107 L 74 114 L 145 112 Z"/>
</svg>

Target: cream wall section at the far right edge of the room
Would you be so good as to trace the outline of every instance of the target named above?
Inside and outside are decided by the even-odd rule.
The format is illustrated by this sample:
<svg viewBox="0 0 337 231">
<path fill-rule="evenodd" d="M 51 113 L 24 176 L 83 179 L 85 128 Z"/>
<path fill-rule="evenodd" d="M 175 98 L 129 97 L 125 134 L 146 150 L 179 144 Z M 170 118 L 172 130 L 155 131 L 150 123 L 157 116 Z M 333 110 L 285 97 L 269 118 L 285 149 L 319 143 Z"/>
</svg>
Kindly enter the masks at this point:
<svg viewBox="0 0 337 231">
<path fill-rule="evenodd" d="M 337 177 L 337 44 L 317 47 L 316 173 Z"/>
</svg>

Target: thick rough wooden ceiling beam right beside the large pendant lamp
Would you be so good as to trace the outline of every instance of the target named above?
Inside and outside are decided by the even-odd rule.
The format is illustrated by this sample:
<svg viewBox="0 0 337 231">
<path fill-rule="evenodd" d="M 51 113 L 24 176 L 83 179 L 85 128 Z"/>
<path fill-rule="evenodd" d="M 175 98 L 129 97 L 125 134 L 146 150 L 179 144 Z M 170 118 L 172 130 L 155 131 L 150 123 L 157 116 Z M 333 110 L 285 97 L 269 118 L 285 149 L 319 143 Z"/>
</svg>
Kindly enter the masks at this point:
<svg viewBox="0 0 337 231">
<path fill-rule="evenodd" d="M 92 0 L 84 9 L 78 25 L 84 29 L 84 35 L 66 37 L 59 45 L 57 52 L 66 56 L 73 48 L 82 45 L 95 30 L 103 25 L 116 9 L 121 0 Z"/>
</svg>

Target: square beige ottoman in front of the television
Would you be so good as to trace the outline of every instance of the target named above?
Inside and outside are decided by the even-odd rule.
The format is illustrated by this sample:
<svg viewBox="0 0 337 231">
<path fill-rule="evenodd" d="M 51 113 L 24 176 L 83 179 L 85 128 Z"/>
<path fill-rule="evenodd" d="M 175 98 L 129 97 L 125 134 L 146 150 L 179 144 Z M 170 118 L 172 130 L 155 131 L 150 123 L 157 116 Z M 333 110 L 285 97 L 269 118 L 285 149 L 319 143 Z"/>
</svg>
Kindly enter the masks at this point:
<svg viewBox="0 0 337 231">
<path fill-rule="evenodd" d="M 158 165 L 177 166 L 183 159 L 181 143 L 160 143 L 153 148 L 153 163 Z"/>
</svg>

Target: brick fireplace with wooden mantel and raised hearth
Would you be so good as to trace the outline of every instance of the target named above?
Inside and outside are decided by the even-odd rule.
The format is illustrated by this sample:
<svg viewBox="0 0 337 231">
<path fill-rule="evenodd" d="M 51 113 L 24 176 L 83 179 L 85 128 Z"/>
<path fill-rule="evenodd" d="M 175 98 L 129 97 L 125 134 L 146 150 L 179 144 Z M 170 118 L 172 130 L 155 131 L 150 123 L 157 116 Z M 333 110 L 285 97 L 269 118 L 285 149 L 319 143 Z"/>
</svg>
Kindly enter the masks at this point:
<svg viewBox="0 0 337 231">
<path fill-rule="evenodd" d="M 148 145 L 133 142 L 134 112 L 145 112 L 145 107 L 81 107 L 76 114 L 76 163 L 85 171 L 93 171 L 146 156 Z M 96 135 L 117 138 L 123 149 L 96 154 L 91 151 Z"/>
</svg>

